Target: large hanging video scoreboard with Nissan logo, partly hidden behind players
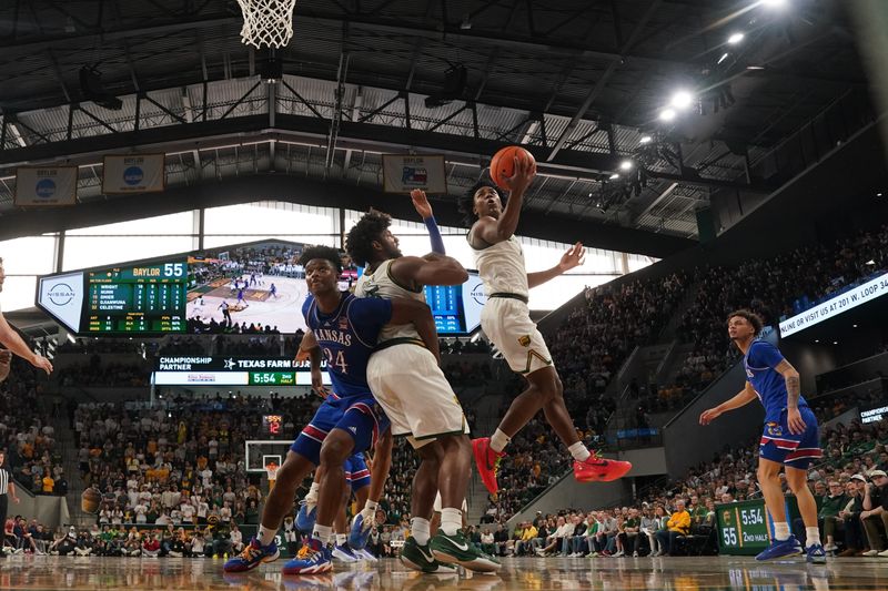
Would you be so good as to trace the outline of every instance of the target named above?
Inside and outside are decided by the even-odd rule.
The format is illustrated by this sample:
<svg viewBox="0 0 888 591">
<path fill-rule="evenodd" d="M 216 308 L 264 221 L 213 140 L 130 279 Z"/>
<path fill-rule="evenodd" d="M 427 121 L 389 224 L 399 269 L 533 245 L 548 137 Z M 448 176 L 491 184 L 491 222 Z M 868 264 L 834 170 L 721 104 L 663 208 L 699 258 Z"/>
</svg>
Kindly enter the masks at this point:
<svg viewBox="0 0 888 591">
<path fill-rule="evenodd" d="M 305 329 L 309 289 L 297 264 L 304 245 L 264 241 L 145 262 L 47 275 L 37 305 L 80 335 L 241 333 Z M 346 268 L 340 289 L 359 269 Z M 464 335 L 481 323 L 481 281 L 426 287 L 441 335 Z"/>
</svg>

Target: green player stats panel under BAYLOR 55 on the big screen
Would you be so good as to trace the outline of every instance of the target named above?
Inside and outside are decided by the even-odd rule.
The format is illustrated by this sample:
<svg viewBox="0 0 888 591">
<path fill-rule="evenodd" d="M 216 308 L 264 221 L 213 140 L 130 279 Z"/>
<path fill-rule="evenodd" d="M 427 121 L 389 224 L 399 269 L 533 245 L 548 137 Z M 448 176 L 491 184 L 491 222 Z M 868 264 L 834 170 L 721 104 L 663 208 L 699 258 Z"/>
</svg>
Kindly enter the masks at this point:
<svg viewBox="0 0 888 591">
<path fill-rule="evenodd" d="M 183 333 L 188 303 L 184 262 L 88 274 L 90 333 Z"/>
</svg>

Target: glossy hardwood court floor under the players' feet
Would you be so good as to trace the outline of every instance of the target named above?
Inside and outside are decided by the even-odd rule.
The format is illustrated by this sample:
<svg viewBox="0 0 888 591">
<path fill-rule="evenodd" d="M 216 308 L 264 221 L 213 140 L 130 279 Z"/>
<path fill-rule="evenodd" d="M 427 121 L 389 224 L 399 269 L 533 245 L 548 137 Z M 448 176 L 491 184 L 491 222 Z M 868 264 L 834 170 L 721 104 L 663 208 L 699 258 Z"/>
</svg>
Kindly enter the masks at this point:
<svg viewBox="0 0 888 591">
<path fill-rule="evenodd" d="M 546 591 L 738 589 L 790 591 L 888 589 L 888 560 L 756 563 L 751 558 L 505 559 L 497 574 L 423 575 L 395 560 L 337 564 L 331 574 L 283 577 L 282 561 L 222 573 L 222 560 L 16 556 L 0 559 L 0 589 L 198 589 Z"/>
</svg>

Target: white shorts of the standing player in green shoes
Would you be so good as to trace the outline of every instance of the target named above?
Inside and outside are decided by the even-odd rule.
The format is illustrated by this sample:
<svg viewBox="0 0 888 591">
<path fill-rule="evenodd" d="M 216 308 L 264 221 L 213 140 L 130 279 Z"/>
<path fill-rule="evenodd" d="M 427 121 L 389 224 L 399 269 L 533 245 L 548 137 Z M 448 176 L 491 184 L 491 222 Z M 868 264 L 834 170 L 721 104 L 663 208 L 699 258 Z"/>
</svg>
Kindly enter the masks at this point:
<svg viewBox="0 0 888 591">
<path fill-rule="evenodd" d="M 463 407 L 425 347 L 405 343 L 374 353 L 367 384 L 392 421 L 392 435 L 406 435 L 414 448 L 443 435 L 468 434 Z"/>
</svg>

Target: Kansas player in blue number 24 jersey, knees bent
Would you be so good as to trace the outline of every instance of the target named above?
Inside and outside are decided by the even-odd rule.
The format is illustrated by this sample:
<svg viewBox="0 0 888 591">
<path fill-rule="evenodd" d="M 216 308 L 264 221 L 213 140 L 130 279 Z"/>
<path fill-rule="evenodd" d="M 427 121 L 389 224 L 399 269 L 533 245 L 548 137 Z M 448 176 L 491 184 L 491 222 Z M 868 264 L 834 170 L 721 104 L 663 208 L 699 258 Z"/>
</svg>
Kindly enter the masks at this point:
<svg viewBox="0 0 888 591">
<path fill-rule="evenodd" d="M 226 572 L 251 570 L 280 556 L 274 537 L 283 517 L 292 510 L 299 483 L 316 466 L 324 469 L 324 475 L 314 531 L 300 557 L 289 561 L 283 572 L 313 574 L 332 569 L 326 542 L 344 496 L 344 462 L 353 452 L 369 449 L 389 428 L 389 420 L 366 384 L 367 359 L 379 333 L 389 323 L 413 324 L 426 346 L 438 355 L 435 323 L 428 306 L 412 300 L 360 299 L 340 293 L 336 279 L 342 273 L 342 262 L 335 248 L 306 248 L 302 264 L 311 294 L 303 306 L 303 315 L 326 357 L 327 371 L 340 400 L 319 408 L 291 446 L 262 510 L 258 537 L 240 556 L 225 562 Z"/>
</svg>

